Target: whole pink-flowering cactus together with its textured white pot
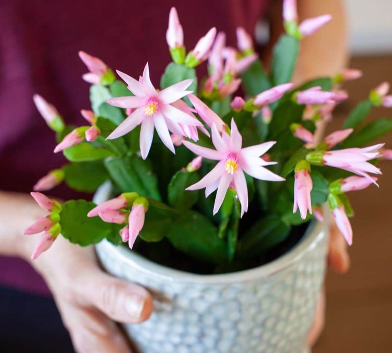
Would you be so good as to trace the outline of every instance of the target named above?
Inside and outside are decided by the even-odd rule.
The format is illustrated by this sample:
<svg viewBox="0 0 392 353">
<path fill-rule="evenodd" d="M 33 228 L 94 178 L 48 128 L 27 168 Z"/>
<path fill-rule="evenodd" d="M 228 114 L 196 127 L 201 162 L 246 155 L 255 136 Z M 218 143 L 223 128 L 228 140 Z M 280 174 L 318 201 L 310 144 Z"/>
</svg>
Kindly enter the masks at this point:
<svg viewBox="0 0 392 353">
<path fill-rule="evenodd" d="M 306 350 L 329 213 L 351 245 L 346 192 L 376 184 L 369 173 L 381 173 L 375 163 L 389 151 L 364 146 L 392 129 L 389 119 L 363 122 L 392 99 L 381 84 L 342 130 L 315 141 L 316 126 L 347 98 L 338 85 L 361 73 L 294 87 L 299 41 L 330 16 L 298 25 L 292 5 L 285 2 L 287 33 L 274 48 L 270 75 L 242 28 L 239 50 L 212 28 L 186 53 L 172 8 L 166 37 L 173 61 L 160 89 L 148 64 L 139 79 L 118 72 L 124 83 L 79 52 L 92 84 L 92 110 L 81 111 L 89 125 L 67 126 L 34 97 L 56 132 L 54 151 L 69 163 L 34 186 L 49 215 L 26 229 L 44 231 L 32 257 L 60 233 L 80 246 L 98 244 L 108 272 L 153 294 L 151 318 L 126 326 L 142 352 Z M 195 67 L 207 59 L 209 76 L 198 83 Z M 240 86 L 246 100 L 233 97 Z M 94 202 L 61 204 L 39 192 L 62 181 L 95 193 Z"/>
</svg>

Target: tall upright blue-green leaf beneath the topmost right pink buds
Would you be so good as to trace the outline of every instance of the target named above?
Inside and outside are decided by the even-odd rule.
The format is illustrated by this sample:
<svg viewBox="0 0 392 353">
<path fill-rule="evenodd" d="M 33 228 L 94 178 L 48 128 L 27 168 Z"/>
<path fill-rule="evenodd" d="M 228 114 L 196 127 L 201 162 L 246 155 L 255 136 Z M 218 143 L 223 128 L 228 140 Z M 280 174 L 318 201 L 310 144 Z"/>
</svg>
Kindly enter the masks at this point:
<svg viewBox="0 0 392 353">
<path fill-rule="evenodd" d="M 297 61 L 299 42 L 286 34 L 276 43 L 271 63 L 271 81 L 276 86 L 291 81 Z"/>
</svg>

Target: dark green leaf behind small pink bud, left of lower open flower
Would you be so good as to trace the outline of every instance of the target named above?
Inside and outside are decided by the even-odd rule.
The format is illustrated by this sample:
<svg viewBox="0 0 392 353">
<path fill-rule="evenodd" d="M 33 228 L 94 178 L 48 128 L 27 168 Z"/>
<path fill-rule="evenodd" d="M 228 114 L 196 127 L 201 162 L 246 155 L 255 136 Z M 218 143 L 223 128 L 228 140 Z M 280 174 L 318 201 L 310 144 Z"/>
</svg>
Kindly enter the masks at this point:
<svg viewBox="0 0 392 353">
<path fill-rule="evenodd" d="M 195 184 L 200 179 L 198 173 L 178 171 L 170 180 L 168 186 L 168 202 L 174 208 L 187 210 L 198 200 L 198 191 L 186 191 L 185 189 Z"/>
</svg>

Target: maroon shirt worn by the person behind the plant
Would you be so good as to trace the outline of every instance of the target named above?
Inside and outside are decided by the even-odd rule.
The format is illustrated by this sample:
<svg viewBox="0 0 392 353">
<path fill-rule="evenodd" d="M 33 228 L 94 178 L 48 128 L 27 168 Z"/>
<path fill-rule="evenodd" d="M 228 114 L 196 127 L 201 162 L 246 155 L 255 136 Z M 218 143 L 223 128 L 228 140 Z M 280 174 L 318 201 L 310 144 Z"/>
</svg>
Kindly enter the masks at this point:
<svg viewBox="0 0 392 353">
<path fill-rule="evenodd" d="M 77 52 L 98 56 L 113 69 L 138 77 L 149 62 L 158 85 L 170 61 L 165 33 L 177 8 L 188 50 L 216 26 L 235 46 L 235 28 L 254 32 L 270 0 L 1 0 L 0 1 L 0 189 L 30 192 L 39 177 L 65 160 L 54 155 L 54 134 L 33 105 L 38 93 L 67 123 L 84 125 L 89 108 L 87 72 Z M 51 195 L 72 193 L 58 187 Z M 45 256 L 45 255 L 44 255 Z M 47 292 L 27 263 L 0 257 L 0 283 Z"/>
</svg>

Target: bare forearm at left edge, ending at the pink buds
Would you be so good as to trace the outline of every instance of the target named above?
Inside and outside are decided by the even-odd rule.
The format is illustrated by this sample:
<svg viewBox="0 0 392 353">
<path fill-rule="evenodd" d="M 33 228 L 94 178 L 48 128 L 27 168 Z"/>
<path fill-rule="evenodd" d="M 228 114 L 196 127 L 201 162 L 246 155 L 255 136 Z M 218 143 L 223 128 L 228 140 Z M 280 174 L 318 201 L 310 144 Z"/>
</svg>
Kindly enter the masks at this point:
<svg viewBox="0 0 392 353">
<path fill-rule="evenodd" d="M 0 191 L 0 255 L 28 259 L 39 236 L 23 231 L 43 216 L 45 211 L 29 195 Z"/>
</svg>

